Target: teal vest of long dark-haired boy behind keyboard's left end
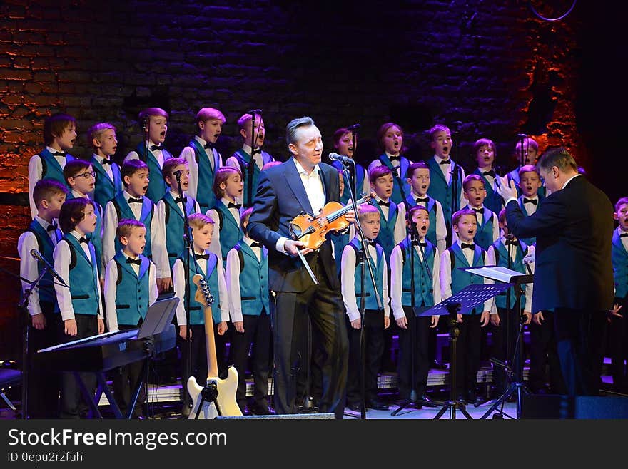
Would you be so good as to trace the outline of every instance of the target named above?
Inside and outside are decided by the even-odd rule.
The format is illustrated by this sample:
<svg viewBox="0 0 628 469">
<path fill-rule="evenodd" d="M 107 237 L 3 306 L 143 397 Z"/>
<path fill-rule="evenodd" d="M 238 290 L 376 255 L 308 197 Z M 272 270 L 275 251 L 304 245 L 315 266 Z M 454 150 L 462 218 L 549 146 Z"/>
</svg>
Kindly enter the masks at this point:
<svg viewBox="0 0 628 469">
<path fill-rule="evenodd" d="M 89 242 L 90 259 L 87 259 L 74 235 L 66 234 L 64 240 L 70 247 L 69 285 L 74 314 L 97 316 L 100 282 L 93 245 Z"/>
</svg>

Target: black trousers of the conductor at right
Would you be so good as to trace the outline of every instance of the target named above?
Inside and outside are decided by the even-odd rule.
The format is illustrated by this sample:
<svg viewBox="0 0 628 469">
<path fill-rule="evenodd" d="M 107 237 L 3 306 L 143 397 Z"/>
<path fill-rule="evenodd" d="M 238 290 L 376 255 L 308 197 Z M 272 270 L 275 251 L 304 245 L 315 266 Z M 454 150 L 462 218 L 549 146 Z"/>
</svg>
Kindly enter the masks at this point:
<svg viewBox="0 0 628 469">
<path fill-rule="evenodd" d="M 605 311 L 557 308 L 554 327 L 560 368 L 569 396 L 599 393 Z"/>
</svg>

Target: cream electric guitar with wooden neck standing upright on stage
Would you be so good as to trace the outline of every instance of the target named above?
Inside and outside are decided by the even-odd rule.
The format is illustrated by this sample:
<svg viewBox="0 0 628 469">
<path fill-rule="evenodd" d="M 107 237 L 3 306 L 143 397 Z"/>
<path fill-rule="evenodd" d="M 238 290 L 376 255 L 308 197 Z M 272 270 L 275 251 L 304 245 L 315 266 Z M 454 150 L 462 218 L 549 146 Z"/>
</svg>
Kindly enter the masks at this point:
<svg viewBox="0 0 628 469">
<path fill-rule="evenodd" d="M 238 371 L 230 366 L 227 371 L 227 378 L 218 378 L 218 361 L 216 361 L 216 341 L 213 336 L 213 318 L 211 316 L 211 304 L 213 297 L 209 291 L 207 280 L 200 274 L 192 277 L 192 282 L 196 285 L 194 299 L 205 306 L 203 314 L 205 317 L 205 340 L 207 346 L 207 382 L 206 386 L 200 386 L 194 376 L 188 378 L 188 393 L 192 398 L 192 410 L 189 419 L 195 418 L 216 418 L 221 416 L 241 416 L 242 412 L 236 402 L 236 390 L 238 388 Z M 206 388 L 216 390 L 216 402 L 220 408 L 220 414 L 213 401 L 203 398 L 203 391 Z M 199 408 L 200 407 L 200 408 Z M 197 417 L 198 414 L 198 417 Z"/>
</svg>

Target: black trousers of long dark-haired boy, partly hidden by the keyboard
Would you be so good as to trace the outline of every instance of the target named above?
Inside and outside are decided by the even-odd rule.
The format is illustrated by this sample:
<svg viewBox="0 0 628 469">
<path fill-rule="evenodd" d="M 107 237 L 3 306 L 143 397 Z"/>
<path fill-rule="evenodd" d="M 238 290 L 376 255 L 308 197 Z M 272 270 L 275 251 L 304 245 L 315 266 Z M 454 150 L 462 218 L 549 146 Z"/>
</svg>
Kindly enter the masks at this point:
<svg viewBox="0 0 628 469">
<path fill-rule="evenodd" d="M 64 330 L 64 321 L 59 321 L 59 344 L 84 339 L 98 334 L 98 316 L 95 314 L 75 314 L 76 336 L 68 336 Z M 77 357 L 77 360 L 80 360 Z M 96 374 L 78 373 L 85 383 L 87 391 L 93 396 L 96 391 Z M 59 418 L 83 418 L 89 410 L 88 403 L 81 394 L 74 373 L 61 372 L 61 411 Z"/>
</svg>

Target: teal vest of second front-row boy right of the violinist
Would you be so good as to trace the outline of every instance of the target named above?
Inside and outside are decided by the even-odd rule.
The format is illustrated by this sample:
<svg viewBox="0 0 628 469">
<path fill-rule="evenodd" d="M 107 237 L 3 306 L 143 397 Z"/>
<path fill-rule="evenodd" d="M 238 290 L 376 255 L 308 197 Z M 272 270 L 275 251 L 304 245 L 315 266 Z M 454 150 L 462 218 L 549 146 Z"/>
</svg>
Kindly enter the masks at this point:
<svg viewBox="0 0 628 469">
<path fill-rule="evenodd" d="M 412 306 L 412 277 L 415 279 L 415 306 L 434 306 L 434 291 L 432 289 L 432 272 L 434 272 L 434 256 L 436 249 L 434 244 L 427 240 L 424 254 L 425 261 L 421 262 L 419 253 L 414 246 L 410 246 L 410 239 L 405 238 L 399 243 L 403 260 L 401 273 L 401 304 Z M 414 259 L 410 259 L 410 255 Z M 412 272 L 414 262 L 414 272 Z"/>
</svg>

